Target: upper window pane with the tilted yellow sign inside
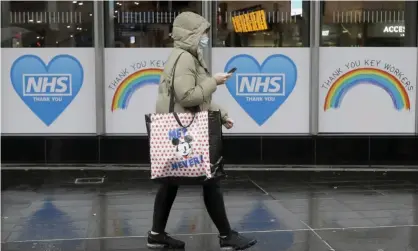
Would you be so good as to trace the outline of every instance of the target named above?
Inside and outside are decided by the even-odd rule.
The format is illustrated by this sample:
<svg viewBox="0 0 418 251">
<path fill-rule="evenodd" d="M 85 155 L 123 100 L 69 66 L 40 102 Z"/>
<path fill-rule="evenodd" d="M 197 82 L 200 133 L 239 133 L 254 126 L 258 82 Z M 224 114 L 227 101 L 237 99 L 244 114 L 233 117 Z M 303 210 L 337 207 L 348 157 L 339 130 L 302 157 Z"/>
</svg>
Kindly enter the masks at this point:
<svg viewBox="0 0 418 251">
<path fill-rule="evenodd" d="M 309 1 L 219 1 L 214 47 L 308 47 Z"/>
</svg>

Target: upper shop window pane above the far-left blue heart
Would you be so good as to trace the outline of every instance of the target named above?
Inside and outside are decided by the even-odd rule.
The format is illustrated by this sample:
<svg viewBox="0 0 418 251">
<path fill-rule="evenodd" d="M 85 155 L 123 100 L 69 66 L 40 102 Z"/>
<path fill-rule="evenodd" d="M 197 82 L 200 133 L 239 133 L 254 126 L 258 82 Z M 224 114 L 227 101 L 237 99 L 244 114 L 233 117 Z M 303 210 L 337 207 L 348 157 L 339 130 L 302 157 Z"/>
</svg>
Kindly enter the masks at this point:
<svg viewBox="0 0 418 251">
<path fill-rule="evenodd" d="M 1 1 L 1 47 L 93 47 L 92 1 Z"/>
</svg>

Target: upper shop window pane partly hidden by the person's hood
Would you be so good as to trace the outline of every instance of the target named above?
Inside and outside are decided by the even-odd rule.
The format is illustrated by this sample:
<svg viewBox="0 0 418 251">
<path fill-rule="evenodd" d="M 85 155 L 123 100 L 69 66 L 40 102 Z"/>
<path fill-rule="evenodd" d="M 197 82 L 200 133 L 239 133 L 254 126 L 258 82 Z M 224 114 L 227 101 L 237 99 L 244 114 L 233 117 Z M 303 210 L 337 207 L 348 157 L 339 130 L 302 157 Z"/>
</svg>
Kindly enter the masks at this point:
<svg viewBox="0 0 418 251">
<path fill-rule="evenodd" d="M 106 1 L 106 47 L 172 47 L 176 16 L 201 9 L 198 1 Z"/>
</svg>

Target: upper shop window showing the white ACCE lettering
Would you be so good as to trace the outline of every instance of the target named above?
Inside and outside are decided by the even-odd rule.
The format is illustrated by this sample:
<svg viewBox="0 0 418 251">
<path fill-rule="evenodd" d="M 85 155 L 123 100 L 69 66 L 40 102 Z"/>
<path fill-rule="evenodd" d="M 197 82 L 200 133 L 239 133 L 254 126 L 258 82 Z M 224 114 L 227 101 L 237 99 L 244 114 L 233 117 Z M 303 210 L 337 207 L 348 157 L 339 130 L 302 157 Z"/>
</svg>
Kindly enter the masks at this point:
<svg viewBox="0 0 418 251">
<path fill-rule="evenodd" d="M 321 1 L 321 46 L 416 46 L 416 1 Z"/>
</svg>

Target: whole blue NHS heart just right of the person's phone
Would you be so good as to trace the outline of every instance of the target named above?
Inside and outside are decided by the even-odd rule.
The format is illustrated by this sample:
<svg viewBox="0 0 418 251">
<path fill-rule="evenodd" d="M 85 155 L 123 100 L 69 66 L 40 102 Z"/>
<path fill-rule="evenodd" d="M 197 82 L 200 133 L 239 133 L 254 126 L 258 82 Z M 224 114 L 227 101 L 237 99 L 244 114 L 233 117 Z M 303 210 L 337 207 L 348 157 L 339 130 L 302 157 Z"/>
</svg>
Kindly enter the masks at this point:
<svg viewBox="0 0 418 251">
<path fill-rule="evenodd" d="M 237 70 L 226 87 L 242 109 L 261 126 L 295 88 L 296 64 L 285 55 L 275 54 L 260 65 L 251 55 L 240 54 L 228 61 L 224 71 L 234 67 Z"/>
</svg>

